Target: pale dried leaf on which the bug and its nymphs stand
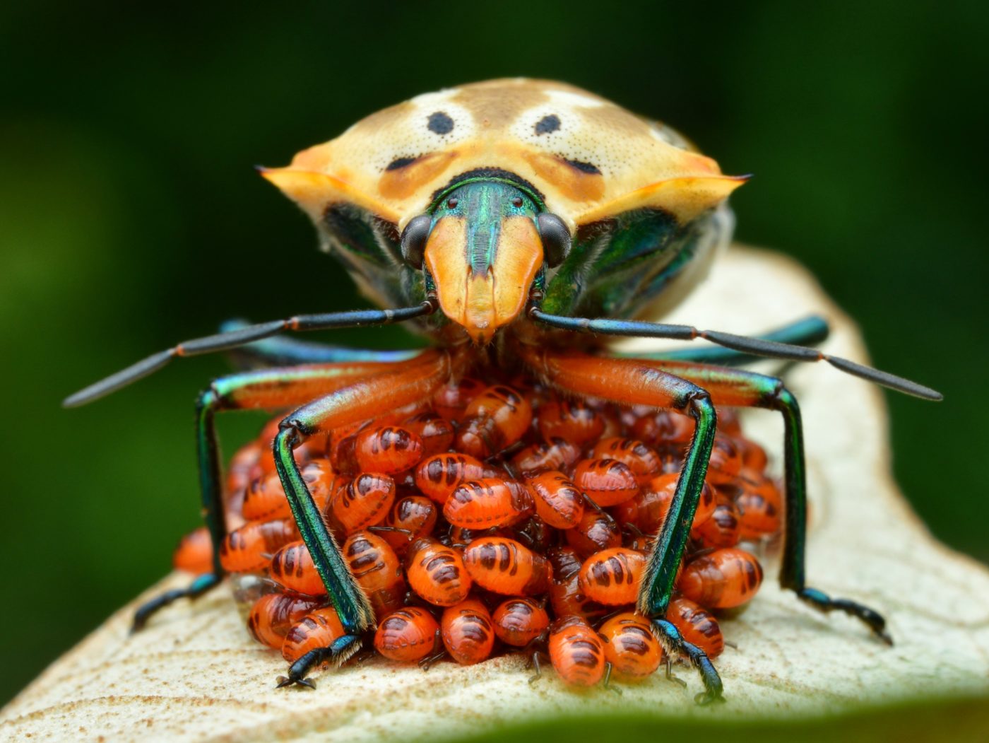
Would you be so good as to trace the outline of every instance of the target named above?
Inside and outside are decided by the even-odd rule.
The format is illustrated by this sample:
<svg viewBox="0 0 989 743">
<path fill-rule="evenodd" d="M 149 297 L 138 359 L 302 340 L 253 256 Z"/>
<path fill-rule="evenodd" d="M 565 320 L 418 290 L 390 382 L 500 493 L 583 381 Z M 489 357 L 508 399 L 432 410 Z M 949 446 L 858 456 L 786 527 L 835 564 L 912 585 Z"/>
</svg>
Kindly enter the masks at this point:
<svg viewBox="0 0 989 743">
<path fill-rule="evenodd" d="M 834 326 L 827 350 L 862 360 L 849 320 L 804 270 L 781 256 L 733 248 L 675 320 L 758 331 L 819 312 Z M 641 345 L 641 344 L 640 344 Z M 909 369 L 897 370 L 909 373 Z M 157 615 L 131 637 L 136 604 L 188 577 L 173 575 L 124 607 L 55 662 L 0 714 L 4 738 L 410 741 L 491 730 L 546 715 L 642 712 L 666 719 L 741 720 L 848 711 L 930 697 L 989 695 L 989 573 L 934 541 L 889 474 L 885 409 L 873 387 L 824 365 L 788 373 L 801 400 L 811 487 L 811 585 L 870 604 L 896 646 L 856 620 L 824 616 L 769 580 L 747 610 L 723 622 L 717 666 L 728 703 L 698 708 L 694 673 L 662 674 L 621 696 L 575 693 L 552 672 L 537 684 L 518 658 L 427 674 L 383 660 L 326 673 L 315 692 L 276 691 L 284 664 L 252 642 L 224 590 Z M 921 405 L 922 403 L 918 403 Z M 782 426 L 754 412 L 747 430 L 778 452 Z M 909 484 L 908 484 L 909 486 Z M 945 498 L 956 497 L 945 494 Z M 985 724 L 985 721 L 982 721 Z"/>
</svg>

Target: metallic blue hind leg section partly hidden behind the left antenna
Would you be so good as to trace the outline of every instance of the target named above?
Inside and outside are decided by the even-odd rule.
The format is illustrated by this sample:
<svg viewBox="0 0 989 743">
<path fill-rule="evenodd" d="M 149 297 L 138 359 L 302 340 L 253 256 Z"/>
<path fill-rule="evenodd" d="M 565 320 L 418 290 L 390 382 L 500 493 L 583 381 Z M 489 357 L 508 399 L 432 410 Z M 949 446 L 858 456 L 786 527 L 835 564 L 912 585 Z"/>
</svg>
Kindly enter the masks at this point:
<svg viewBox="0 0 989 743">
<path fill-rule="evenodd" d="M 220 332 L 233 332 L 249 327 L 243 320 L 228 320 L 220 326 Z M 270 338 L 255 340 L 229 351 L 238 367 L 256 369 L 271 366 L 294 366 L 296 364 L 337 364 L 355 361 L 405 361 L 419 351 L 379 350 L 376 348 L 351 348 L 344 345 L 330 345 L 311 340 L 300 340 L 288 335 L 273 335 Z"/>
</svg>

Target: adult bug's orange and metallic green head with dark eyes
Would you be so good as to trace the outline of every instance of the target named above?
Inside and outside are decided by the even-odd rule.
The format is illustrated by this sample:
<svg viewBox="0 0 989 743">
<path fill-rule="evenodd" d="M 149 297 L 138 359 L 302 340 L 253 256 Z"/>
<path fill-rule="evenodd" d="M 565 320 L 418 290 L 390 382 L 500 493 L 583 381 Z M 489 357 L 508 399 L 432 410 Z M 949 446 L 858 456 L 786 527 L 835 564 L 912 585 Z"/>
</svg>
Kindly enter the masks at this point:
<svg viewBox="0 0 989 743">
<path fill-rule="evenodd" d="M 443 314 L 479 344 L 515 320 L 543 263 L 562 262 L 570 232 L 528 189 L 467 180 L 439 195 L 402 234 L 406 262 L 431 277 Z"/>
</svg>

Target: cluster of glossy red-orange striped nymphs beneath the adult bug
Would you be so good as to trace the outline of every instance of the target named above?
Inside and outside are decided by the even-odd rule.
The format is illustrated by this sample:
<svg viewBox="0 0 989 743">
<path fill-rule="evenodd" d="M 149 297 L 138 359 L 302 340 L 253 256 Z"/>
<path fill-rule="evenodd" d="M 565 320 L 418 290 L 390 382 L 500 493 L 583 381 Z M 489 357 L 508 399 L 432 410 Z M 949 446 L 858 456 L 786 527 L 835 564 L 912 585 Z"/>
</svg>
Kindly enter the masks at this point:
<svg viewBox="0 0 989 743">
<path fill-rule="evenodd" d="M 294 662 L 345 632 L 276 472 L 277 426 L 230 461 L 220 557 L 250 633 Z M 366 647 L 424 668 L 522 653 L 538 672 L 548 655 L 564 682 L 591 686 L 612 672 L 670 673 L 675 659 L 635 604 L 692 433 L 673 412 L 465 378 L 428 405 L 312 438 L 295 457 L 374 610 Z M 759 590 L 752 550 L 780 528 L 765 466 L 739 419 L 719 411 L 667 612 L 708 657 L 725 646 L 718 612 Z M 205 529 L 180 543 L 176 567 L 211 564 Z"/>
</svg>

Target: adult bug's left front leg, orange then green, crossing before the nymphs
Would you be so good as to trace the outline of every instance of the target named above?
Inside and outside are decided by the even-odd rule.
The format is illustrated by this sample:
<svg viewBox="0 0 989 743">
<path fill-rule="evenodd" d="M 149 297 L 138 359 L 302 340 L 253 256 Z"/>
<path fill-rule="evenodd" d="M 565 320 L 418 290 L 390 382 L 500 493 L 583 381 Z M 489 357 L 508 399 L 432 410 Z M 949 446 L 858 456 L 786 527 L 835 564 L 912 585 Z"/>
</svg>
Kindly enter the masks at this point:
<svg viewBox="0 0 989 743">
<path fill-rule="evenodd" d="M 293 449 L 307 438 L 333 428 L 375 418 L 428 399 L 454 372 L 447 352 L 425 351 L 401 365 L 400 370 L 380 374 L 337 390 L 298 409 L 282 423 L 274 441 L 275 468 L 316 572 L 343 627 L 343 637 L 327 648 L 317 648 L 289 669 L 279 686 L 307 685 L 306 674 L 323 660 L 342 663 L 360 648 L 360 637 L 374 623 L 374 613 L 333 535 L 326 528 L 293 457 Z M 308 686 L 308 685 L 307 685 Z"/>
</svg>

